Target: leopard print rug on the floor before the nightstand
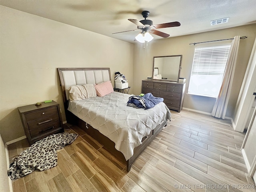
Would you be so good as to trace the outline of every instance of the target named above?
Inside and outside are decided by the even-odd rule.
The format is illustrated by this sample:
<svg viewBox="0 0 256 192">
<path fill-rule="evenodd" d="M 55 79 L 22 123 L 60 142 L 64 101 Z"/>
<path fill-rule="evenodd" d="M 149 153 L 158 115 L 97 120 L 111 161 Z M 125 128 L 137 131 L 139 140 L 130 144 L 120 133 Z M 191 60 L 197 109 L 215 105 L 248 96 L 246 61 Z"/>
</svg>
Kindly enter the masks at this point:
<svg viewBox="0 0 256 192">
<path fill-rule="evenodd" d="M 16 179 L 32 173 L 36 169 L 43 171 L 55 167 L 58 164 L 56 150 L 71 144 L 77 137 L 78 135 L 73 133 L 59 133 L 34 143 L 10 164 L 8 176 L 11 179 Z"/>
</svg>

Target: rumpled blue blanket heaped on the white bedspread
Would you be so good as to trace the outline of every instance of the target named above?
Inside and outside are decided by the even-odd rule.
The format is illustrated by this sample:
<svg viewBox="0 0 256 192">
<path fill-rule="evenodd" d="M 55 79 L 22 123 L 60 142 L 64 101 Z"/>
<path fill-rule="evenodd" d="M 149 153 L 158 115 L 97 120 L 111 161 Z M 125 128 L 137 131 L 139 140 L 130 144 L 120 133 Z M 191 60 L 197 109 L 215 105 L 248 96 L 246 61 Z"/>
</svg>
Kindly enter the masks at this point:
<svg viewBox="0 0 256 192">
<path fill-rule="evenodd" d="M 155 97 L 152 95 L 152 93 L 147 93 L 144 96 L 130 96 L 127 106 L 150 109 L 163 101 L 164 98 Z"/>
</svg>

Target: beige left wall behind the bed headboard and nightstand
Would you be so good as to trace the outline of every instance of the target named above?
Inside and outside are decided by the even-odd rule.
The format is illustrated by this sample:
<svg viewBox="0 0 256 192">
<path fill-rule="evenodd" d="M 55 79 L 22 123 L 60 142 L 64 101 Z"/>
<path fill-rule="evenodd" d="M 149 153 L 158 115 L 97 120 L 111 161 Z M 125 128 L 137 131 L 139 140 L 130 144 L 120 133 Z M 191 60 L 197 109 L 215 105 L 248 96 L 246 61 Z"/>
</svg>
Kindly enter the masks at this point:
<svg viewBox="0 0 256 192">
<path fill-rule="evenodd" d="M 5 6 L 0 6 L 0 14 L 0 133 L 4 142 L 25 135 L 19 106 L 55 100 L 66 120 L 58 67 L 110 67 L 112 79 L 116 71 L 126 75 L 132 93 L 133 44 Z"/>
</svg>

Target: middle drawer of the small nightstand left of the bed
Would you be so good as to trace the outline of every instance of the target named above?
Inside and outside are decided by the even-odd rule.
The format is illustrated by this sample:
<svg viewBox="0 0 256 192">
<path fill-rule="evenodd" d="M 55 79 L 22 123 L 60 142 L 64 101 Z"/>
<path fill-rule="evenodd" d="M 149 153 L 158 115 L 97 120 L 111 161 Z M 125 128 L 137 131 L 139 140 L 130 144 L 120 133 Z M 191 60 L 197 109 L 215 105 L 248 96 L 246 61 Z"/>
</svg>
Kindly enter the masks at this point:
<svg viewBox="0 0 256 192">
<path fill-rule="evenodd" d="M 59 120 L 59 114 L 51 115 L 45 118 L 37 119 L 34 121 L 28 122 L 28 129 L 33 130 L 36 128 L 42 128 L 44 126 L 51 125 L 52 122 Z"/>
</svg>

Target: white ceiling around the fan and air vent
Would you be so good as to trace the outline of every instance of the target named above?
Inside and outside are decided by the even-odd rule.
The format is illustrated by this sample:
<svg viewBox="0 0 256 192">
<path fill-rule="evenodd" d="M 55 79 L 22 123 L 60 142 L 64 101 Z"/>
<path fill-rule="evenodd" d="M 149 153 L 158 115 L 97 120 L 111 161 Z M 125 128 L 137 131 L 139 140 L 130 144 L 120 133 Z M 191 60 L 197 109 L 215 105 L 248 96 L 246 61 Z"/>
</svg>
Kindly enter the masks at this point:
<svg viewBox="0 0 256 192">
<path fill-rule="evenodd" d="M 134 42 L 140 31 L 128 21 L 147 19 L 154 24 L 180 22 L 181 26 L 158 29 L 170 37 L 256 23 L 256 0 L 0 0 L 0 4 L 44 18 Z M 229 17 L 228 23 L 210 25 L 211 20 Z M 162 37 L 152 35 L 154 39 Z"/>
</svg>

